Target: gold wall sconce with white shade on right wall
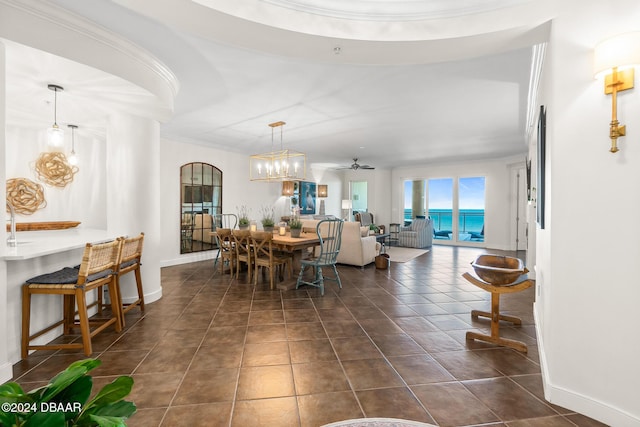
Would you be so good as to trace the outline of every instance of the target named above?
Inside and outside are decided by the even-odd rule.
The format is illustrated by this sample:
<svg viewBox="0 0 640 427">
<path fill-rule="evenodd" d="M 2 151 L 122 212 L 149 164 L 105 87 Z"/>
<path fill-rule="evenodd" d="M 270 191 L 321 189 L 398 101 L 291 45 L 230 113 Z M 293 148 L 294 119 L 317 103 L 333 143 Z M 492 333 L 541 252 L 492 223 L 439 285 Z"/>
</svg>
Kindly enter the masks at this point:
<svg viewBox="0 0 640 427">
<path fill-rule="evenodd" d="M 611 94 L 611 151 L 617 152 L 618 138 L 626 126 L 618 122 L 618 92 L 633 88 L 634 66 L 640 65 L 640 32 L 620 34 L 598 43 L 594 51 L 594 73 L 604 76 L 604 93 Z"/>
</svg>

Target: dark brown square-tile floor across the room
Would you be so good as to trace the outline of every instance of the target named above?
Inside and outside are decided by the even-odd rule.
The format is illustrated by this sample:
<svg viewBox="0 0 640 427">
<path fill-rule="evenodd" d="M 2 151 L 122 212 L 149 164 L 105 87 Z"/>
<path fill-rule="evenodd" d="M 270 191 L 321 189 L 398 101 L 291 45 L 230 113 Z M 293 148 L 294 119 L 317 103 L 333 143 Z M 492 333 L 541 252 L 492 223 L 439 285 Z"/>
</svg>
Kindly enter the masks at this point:
<svg viewBox="0 0 640 427">
<path fill-rule="evenodd" d="M 130 312 L 123 333 L 94 339 L 103 361 L 94 389 L 132 375 L 132 427 L 315 427 L 364 416 L 601 426 L 543 398 L 533 289 L 501 298 L 501 311 L 523 320 L 502 335 L 527 354 L 465 341 L 466 331 L 489 333 L 470 316 L 489 309 L 489 294 L 461 277 L 483 252 L 434 246 L 389 270 L 340 266 L 343 289 L 328 285 L 324 297 L 230 281 L 211 261 L 164 268 L 164 297 L 144 316 Z M 15 377 L 31 389 L 82 357 L 36 352 Z"/>
</svg>

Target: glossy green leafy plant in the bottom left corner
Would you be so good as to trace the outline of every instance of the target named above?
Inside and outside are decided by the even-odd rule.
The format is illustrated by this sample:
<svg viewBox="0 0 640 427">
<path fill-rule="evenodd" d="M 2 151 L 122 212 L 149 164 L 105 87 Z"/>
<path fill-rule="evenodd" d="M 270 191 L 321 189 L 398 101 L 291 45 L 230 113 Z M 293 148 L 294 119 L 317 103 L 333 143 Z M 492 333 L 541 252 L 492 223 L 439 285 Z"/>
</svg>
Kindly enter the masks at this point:
<svg viewBox="0 0 640 427">
<path fill-rule="evenodd" d="M 15 382 L 0 385 L 0 425 L 126 426 L 125 420 L 136 412 L 136 405 L 123 400 L 133 378 L 118 377 L 89 400 L 93 378 L 87 372 L 100 364 L 96 359 L 74 362 L 49 384 L 28 393 Z"/>
</svg>

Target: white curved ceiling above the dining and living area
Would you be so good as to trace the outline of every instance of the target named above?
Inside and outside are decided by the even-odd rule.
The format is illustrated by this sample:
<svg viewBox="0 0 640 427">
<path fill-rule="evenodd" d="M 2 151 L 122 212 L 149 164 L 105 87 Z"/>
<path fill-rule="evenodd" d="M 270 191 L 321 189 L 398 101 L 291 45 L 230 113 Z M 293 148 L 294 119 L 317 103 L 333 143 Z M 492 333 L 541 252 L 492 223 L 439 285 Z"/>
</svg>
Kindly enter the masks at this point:
<svg viewBox="0 0 640 427">
<path fill-rule="evenodd" d="M 531 46 L 544 41 L 548 19 L 531 13 L 536 1 L 54 3 L 122 34 L 175 73 L 180 91 L 162 124 L 167 138 L 253 154 L 270 150 L 267 125 L 283 120 L 285 148 L 307 153 L 311 163 L 358 157 L 396 167 L 527 151 Z M 276 22 L 282 16 L 291 18 L 286 25 Z M 292 19 L 312 31 L 272 26 L 291 27 Z M 332 21 L 323 27 L 325 19 Z M 438 38 L 443 20 L 458 26 Z M 319 35 L 322 28 L 341 37 Z M 389 40 L 380 41 L 384 34 Z M 113 81 L 101 84 L 95 76 L 68 83 L 70 90 L 87 86 L 77 92 L 117 93 Z"/>
</svg>

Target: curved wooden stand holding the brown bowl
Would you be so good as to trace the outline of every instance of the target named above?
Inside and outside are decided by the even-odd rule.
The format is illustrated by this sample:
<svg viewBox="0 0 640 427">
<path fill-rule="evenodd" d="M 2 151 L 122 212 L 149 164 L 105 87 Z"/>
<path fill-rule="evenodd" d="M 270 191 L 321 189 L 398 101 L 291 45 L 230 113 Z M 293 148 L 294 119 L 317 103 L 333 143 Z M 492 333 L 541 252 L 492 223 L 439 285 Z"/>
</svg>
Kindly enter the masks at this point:
<svg viewBox="0 0 640 427">
<path fill-rule="evenodd" d="M 471 310 L 471 317 L 477 319 L 479 316 L 487 317 L 491 319 L 491 335 L 479 334 L 477 332 L 467 332 L 466 338 L 468 340 L 480 340 L 486 341 L 492 344 L 497 344 L 505 347 L 510 347 L 521 351 L 527 352 L 527 345 L 522 341 L 512 340 L 509 338 L 500 337 L 500 320 L 511 322 L 514 325 L 522 325 L 522 320 L 515 316 L 506 316 L 500 314 L 500 294 L 509 294 L 514 292 L 520 292 L 533 285 L 534 281 L 531 279 L 525 279 L 518 283 L 511 285 L 496 286 L 490 283 L 484 282 L 469 273 L 462 275 L 472 284 L 476 285 L 480 289 L 484 289 L 487 292 L 491 292 L 491 313 L 480 310 Z"/>
</svg>

